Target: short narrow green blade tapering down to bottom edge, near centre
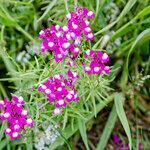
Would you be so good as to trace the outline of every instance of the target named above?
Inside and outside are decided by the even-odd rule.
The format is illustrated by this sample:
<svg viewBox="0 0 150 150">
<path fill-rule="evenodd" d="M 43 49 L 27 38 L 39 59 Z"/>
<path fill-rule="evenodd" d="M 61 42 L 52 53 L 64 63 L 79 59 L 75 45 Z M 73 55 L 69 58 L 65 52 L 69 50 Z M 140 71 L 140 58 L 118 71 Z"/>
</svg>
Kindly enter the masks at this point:
<svg viewBox="0 0 150 150">
<path fill-rule="evenodd" d="M 85 121 L 82 120 L 82 119 L 78 119 L 78 125 L 79 125 L 79 131 L 80 131 L 82 140 L 85 144 L 85 147 L 86 147 L 87 150 L 90 150 L 89 145 L 88 145 L 88 137 L 87 137 L 87 134 L 86 134 Z"/>
</svg>

